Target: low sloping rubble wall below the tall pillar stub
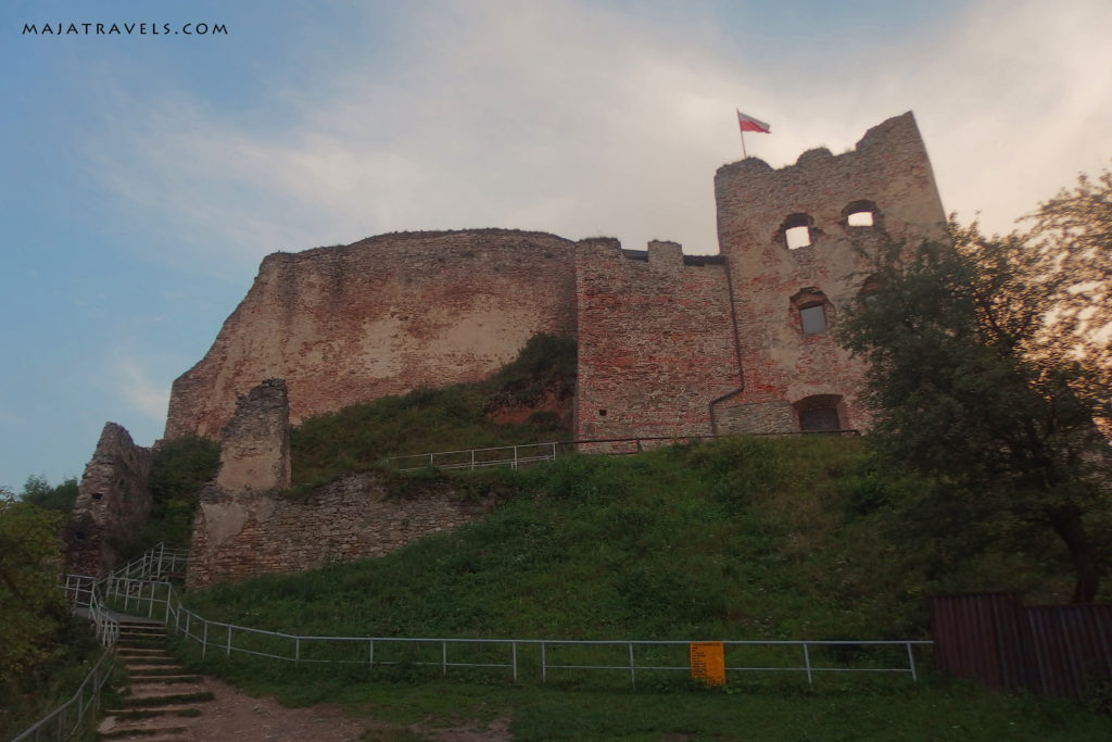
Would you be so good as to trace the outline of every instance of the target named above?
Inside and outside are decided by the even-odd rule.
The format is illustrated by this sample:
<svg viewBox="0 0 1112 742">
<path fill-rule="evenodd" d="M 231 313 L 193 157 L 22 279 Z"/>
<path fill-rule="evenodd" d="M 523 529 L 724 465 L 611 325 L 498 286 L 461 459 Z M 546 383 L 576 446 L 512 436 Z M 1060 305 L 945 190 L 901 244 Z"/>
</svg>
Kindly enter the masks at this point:
<svg viewBox="0 0 1112 742">
<path fill-rule="evenodd" d="M 297 499 L 211 487 L 193 521 L 186 584 L 202 587 L 383 556 L 475 521 L 492 507 L 490 502 L 465 502 L 444 484 L 398 496 L 375 474 L 351 475 Z"/>
</svg>

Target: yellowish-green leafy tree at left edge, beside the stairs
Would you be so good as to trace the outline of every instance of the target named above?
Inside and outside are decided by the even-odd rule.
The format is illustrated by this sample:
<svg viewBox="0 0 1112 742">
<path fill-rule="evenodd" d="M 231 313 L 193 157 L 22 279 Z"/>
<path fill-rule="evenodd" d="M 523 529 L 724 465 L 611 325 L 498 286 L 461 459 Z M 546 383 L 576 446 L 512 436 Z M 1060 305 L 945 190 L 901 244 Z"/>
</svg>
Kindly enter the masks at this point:
<svg viewBox="0 0 1112 742">
<path fill-rule="evenodd" d="M 0 492 L 0 693 L 54 649 L 67 621 L 58 590 L 61 515 Z"/>
</svg>

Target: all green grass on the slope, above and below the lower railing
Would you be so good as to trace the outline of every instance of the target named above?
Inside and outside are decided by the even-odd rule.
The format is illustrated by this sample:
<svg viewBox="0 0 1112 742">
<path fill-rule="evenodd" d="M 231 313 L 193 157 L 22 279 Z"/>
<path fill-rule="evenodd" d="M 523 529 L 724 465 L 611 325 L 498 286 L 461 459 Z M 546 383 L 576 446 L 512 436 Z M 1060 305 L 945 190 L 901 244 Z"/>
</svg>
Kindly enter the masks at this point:
<svg viewBox="0 0 1112 742">
<path fill-rule="evenodd" d="M 518 494 L 481 522 L 380 560 L 218 585 L 188 602 L 210 619 L 301 635 L 881 639 L 925 635 L 930 592 L 1070 585 L 1068 565 L 1040 571 L 1026 556 L 990 554 L 940 573 L 892 531 L 893 507 L 916 483 L 882 481 L 860 439 L 569 457 L 480 473 L 468 486 Z M 1005 583 L 1017 567 L 1025 582 Z M 1112 720 L 1079 704 L 930 676 L 912 685 L 830 674 L 808 689 L 754 674 L 711 690 L 662 673 L 638 674 L 631 690 L 620 671 L 564 671 L 549 676 L 555 687 L 536 686 L 528 656 L 524 685 L 505 671 L 456 670 L 445 681 L 405 663 L 193 656 L 250 692 L 370 715 L 368 740 L 436 739 L 438 728 L 498 720 L 515 740 L 1112 739 Z"/>
</svg>

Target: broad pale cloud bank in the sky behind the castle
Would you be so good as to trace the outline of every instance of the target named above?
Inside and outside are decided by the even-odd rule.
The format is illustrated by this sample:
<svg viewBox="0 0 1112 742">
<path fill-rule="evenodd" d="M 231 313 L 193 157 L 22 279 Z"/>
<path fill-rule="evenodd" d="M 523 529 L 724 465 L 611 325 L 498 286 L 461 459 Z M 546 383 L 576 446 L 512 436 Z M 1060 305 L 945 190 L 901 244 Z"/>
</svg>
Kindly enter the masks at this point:
<svg viewBox="0 0 1112 742">
<path fill-rule="evenodd" d="M 772 60 L 728 51 L 731 29 L 701 36 L 714 33 L 707 18 L 654 26 L 572 1 L 416 8 L 381 55 L 320 44 L 305 60 L 318 85 L 276 83 L 280 116 L 266 126 L 264 112 L 183 90 L 120 106 L 98 170 L 150 228 L 250 264 L 384 231 L 486 226 L 713 253 L 714 170 L 741 157 L 735 106 L 772 121 L 751 154 L 774 166 L 852 147 L 914 109 L 943 202 L 966 218 L 983 210 L 990 229 L 1112 151 L 1105 2 L 985 2 L 911 40 Z"/>
</svg>

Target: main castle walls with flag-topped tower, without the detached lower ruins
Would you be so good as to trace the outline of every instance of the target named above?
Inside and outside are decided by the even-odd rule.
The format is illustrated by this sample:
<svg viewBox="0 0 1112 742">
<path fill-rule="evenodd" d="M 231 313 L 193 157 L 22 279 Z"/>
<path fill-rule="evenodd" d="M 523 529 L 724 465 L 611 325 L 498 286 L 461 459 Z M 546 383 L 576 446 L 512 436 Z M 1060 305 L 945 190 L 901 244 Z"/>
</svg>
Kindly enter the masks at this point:
<svg viewBox="0 0 1112 742">
<path fill-rule="evenodd" d="M 863 369 L 837 345 L 838 317 L 867 288 L 876 246 L 941 236 L 945 221 L 914 118 L 843 155 L 724 166 L 715 198 L 718 256 L 498 229 L 271 255 L 175 383 L 167 437 L 215 437 L 265 378 L 286 380 L 296 423 L 476 380 L 540 332 L 578 337 L 580 438 L 866 427 Z M 801 227 L 810 245 L 793 249 Z"/>
</svg>

